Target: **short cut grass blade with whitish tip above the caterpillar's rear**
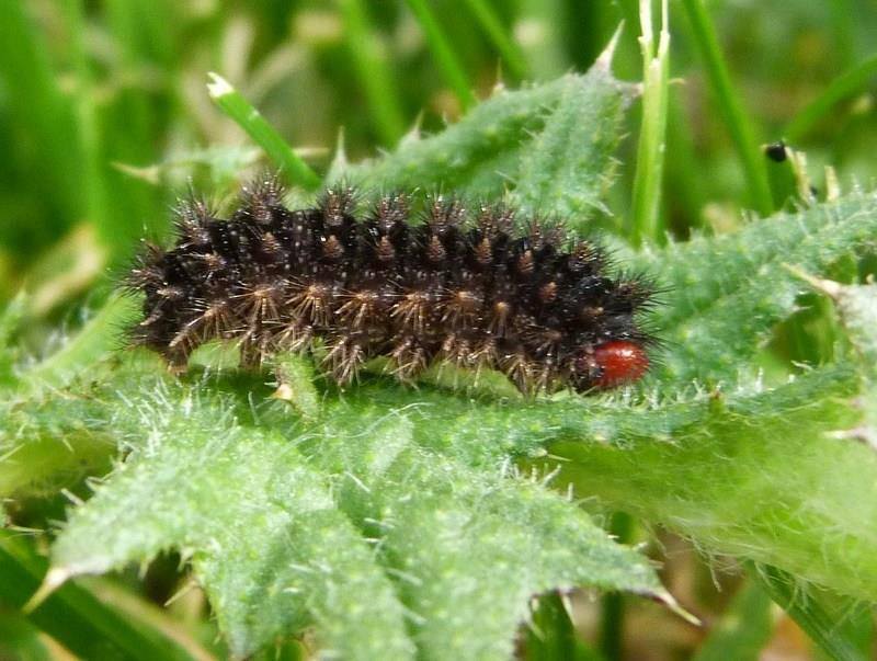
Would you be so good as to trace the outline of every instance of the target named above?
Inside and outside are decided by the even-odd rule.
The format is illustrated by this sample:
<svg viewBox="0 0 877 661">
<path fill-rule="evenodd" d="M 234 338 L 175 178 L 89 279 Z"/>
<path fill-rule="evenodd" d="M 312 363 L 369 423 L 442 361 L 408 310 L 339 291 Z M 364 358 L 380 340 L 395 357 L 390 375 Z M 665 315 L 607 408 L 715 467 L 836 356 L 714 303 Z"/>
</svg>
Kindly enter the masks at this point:
<svg viewBox="0 0 877 661">
<path fill-rule="evenodd" d="M 267 123 L 243 95 L 218 73 L 208 73 L 207 91 L 214 103 L 265 150 L 280 166 L 289 183 L 314 190 L 320 185 L 319 175 L 286 144 L 276 129 Z"/>
</svg>

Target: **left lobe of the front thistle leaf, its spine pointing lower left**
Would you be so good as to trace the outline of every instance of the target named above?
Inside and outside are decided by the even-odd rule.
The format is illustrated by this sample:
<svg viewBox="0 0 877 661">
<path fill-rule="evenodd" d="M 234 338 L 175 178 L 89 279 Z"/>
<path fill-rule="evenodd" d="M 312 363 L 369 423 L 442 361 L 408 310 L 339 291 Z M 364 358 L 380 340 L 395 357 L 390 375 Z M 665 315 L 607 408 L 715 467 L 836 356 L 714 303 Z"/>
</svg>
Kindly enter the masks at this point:
<svg viewBox="0 0 877 661">
<path fill-rule="evenodd" d="M 96 573 L 176 548 L 238 656 L 316 624 L 342 658 L 410 657 L 388 579 L 296 444 L 219 402 L 166 398 L 144 407 L 141 442 L 71 517 L 55 566 Z"/>
</svg>

